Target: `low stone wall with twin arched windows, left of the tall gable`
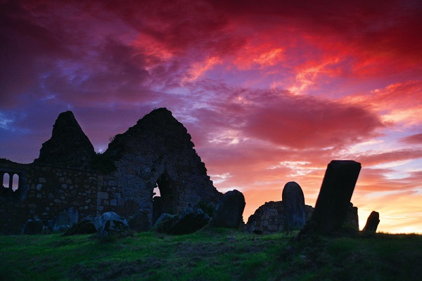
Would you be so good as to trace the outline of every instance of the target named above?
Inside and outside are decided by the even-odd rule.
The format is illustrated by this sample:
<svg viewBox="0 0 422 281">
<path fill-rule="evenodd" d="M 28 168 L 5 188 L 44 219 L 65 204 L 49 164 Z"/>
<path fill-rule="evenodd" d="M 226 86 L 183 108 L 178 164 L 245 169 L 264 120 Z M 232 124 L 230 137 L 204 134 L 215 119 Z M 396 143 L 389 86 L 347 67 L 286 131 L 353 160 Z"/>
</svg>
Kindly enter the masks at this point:
<svg viewBox="0 0 422 281">
<path fill-rule="evenodd" d="M 0 173 L 20 176 L 16 194 L 0 194 L 0 233 L 18 234 L 28 219 L 35 218 L 52 226 L 56 214 L 69 208 L 85 218 L 124 207 L 116 179 L 96 171 L 1 159 Z"/>
</svg>

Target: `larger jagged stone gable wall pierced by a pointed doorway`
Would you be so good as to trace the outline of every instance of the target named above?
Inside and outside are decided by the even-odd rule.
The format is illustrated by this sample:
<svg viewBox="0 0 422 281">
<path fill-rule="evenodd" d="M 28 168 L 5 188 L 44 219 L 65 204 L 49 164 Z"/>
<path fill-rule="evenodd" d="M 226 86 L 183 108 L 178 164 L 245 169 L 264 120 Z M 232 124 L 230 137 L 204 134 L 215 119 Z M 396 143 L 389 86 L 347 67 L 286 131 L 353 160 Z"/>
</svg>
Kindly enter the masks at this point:
<svg viewBox="0 0 422 281">
<path fill-rule="evenodd" d="M 186 128 L 161 108 L 115 136 L 103 156 L 116 159 L 112 175 L 122 186 L 124 199 L 135 198 L 152 221 L 155 187 L 160 189 L 160 209 L 165 213 L 178 214 L 200 202 L 217 204 L 221 194 L 193 146 Z"/>
</svg>

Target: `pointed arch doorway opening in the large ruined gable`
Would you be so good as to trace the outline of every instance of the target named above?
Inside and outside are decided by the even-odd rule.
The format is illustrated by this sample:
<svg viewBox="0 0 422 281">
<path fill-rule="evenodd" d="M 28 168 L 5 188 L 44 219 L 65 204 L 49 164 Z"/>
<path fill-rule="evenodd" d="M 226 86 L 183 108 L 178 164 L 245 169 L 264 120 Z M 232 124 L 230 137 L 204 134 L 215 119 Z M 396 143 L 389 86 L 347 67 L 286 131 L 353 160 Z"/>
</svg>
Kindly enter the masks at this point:
<svg viewBox="0 0 422 281">
<path fill-rule="evenodd" d="M 161 216 L 161 214 L 177 214 L 177 206 L 179 204 L 179 195 L 174 185 L 174 181 L 167 172 L 161 174 L 157 179 L 156 188 L 153 196 L 153 224 Z M 156 188 L 154 190 L 156 190 Z"/>
</svg>

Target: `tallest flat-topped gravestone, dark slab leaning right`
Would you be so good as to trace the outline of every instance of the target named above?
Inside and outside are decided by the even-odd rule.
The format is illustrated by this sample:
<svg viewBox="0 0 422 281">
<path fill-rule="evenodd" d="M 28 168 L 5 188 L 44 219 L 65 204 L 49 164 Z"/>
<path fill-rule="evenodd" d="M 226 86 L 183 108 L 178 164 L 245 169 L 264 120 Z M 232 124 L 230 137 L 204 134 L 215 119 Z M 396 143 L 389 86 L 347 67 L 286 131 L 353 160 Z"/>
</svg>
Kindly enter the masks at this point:
<svg viewBox="0 0 422 281">
<path fill-rule="evenodd" d="M 314 213 L 301 235 L 329 235 L 342 228 L 360 169 L 361 164 L 351 160 L 333 160 L 328 164 Z"/>
</svg>

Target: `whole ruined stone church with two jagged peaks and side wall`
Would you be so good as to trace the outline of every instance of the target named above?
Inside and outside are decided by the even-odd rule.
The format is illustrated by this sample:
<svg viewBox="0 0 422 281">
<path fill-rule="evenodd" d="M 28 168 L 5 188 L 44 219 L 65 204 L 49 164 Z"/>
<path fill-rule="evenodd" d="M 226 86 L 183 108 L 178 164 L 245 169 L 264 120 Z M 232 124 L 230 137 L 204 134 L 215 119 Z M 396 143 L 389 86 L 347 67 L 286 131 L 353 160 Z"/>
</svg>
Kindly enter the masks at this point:
<svg viewBox="0 0 422 281">
<path fill-rule="evenodd" d="M 159 108 L 97 155 L 72 112 L 63 112 L 32 164 L 0 159 L 0 233 L 20 233 L 34 218 L 51 226 L 60 211 L 79 220 L 143 211 L 151 225 L 163 212 L 217 204 L 222 194 L 193 146 L 172 112 Z"/>
</svg>

